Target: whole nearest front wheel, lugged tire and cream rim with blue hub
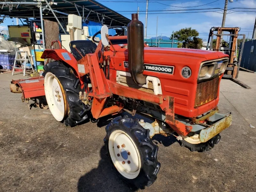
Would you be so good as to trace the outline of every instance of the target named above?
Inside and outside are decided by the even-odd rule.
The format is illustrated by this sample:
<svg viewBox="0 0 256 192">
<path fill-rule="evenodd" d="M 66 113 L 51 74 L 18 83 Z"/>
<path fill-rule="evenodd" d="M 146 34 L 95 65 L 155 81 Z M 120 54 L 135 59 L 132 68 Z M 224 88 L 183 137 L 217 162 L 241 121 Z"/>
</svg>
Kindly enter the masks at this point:
<svg viewBox="0 0 256 192">
<path fill-rule="evenodd" d="M 138 119 L 118 116 L 108 124 L 106 132 L 104 143 L 119 177 L 140 189 L 152 185 L 161 164 L 149 130 L 141 127 Z"/>
</svg>

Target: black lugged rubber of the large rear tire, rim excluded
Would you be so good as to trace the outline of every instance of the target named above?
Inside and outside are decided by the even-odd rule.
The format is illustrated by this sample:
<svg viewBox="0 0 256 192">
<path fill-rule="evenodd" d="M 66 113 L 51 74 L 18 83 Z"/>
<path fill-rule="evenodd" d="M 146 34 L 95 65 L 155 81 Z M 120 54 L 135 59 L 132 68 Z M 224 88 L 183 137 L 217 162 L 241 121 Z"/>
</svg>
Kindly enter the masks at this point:
<svg viewBox="0 0 256 192">
<path fill-rule="evenodd" d="M 88 116 L 87 108 L 81 100 L 79 100 L 79 92 L 82 91 L 79 78 L 75 76 L 71 68 L 66 67 L 60 61 L 50 62 L 45 65 L 43 76 L 45 77 L 48 72 L 54 74 L 58 78 L 64 90 L 63 94 L 66 96 L 68 104 L 67 116 L 65 116 L 61 122 L 64 122 L 66 126 L 71 127 L 82 123 Z M 52 114 L 54 113 L 52 110 L 51 112 Z"/>
</svg>

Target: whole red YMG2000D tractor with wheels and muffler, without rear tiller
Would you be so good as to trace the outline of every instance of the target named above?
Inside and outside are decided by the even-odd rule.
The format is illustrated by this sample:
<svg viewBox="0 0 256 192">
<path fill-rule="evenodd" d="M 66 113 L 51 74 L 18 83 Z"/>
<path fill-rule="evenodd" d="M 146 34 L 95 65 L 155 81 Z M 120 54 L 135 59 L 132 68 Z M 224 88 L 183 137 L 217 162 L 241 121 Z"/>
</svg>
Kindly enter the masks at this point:
<svg viewBox="0 0 256 192">
<path fill-rule="evenodd" d="M 113 27 L 112 27 L 113 28 Z M 67 126 L 89 117 L 137 112 L 154 120 L 115 117 L 104 142 L 119 176 L 137 188 L 150 186 L 160 169 L 155 134 L 173 134 L 191 151 L 208 151 L 220 141 L 232 114 L 218 112 L 220 80 L 228 55 L 180 48 L 153 48 L 143 41 L 137 14 L 122 33 L 101 40 L 72 41 L 71 52 L 45 50 L 44 90 L 56 120 Z M 120 30 L 119 30 L 120 31 Z M 93 38 L 94 39 L 94 38 Z"/>
</svg>

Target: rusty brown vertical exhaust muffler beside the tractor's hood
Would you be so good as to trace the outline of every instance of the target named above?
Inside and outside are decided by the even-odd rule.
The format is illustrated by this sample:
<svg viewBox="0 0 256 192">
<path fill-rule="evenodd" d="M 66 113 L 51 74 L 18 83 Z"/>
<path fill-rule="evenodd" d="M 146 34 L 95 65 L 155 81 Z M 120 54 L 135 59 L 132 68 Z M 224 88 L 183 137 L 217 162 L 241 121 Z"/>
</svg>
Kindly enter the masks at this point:
<svg viewBox="0 0 256 192">
<path fill-rule="evenodd" d="M 127 25 L 129 72 L 135 83 L 146 84 L 144 71 L 144 26 L 138 20 L 138 14 L 132 14 L 132 21 Z"/>
</svg>

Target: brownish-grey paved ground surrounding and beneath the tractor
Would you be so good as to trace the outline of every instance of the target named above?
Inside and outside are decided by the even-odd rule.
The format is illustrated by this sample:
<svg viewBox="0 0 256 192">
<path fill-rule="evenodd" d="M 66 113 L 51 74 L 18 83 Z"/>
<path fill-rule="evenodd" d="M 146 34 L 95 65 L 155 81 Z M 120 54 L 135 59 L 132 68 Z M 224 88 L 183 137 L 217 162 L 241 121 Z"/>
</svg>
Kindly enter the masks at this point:
<svg viewBox="0 0 256 192">
<path fill-rule="evenodd" d="M 103 143 L 108 118 L 73 128 L 56 121 L 49 109 L 22 103 L 0 74 L 0 191 L 134 191 L 119 180 Z M 256 191 L 256 74 L 221 81 L 219 109 L 233 113 L 232 125 L 215 148 L 190 152 L 173 137 L 157 136 L 162 166 L 144 191 Z"/>
</svg>

